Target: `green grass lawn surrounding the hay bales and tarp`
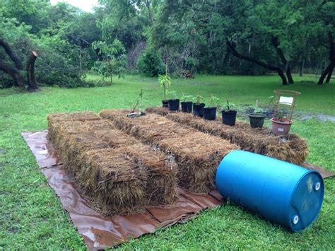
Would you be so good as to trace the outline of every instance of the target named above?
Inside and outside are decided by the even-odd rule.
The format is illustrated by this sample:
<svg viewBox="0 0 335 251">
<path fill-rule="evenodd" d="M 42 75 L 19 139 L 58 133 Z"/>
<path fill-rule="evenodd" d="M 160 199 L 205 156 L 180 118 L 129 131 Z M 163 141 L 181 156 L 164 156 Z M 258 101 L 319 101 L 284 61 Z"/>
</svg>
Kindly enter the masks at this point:
<svg viewBox="0 0 335 251">
<path fill-rule="evenodd" d="M 170 89 L 192 95 L 199 91 L 204 97 L 213 93 L 237 105 L 252 105 L 256 99 L 261 104 L 267 103 L 274 89 L 288 88 L 302 93 L 297 110 L 335 116 L 335 81 L 325 86 L 316 86 L 311 81 L 317 79 L 295 76 L 296 83 L 284 87 L 278 76 L 196 76 L 193 80 L 172 79 Z M 96 88 L 45 87 L 37 93 L 0 90 L 0 249 L 85 248 L 20 132 L 46 129 L 46 116 L 50 112 L 98 112 L 102 108 L 130 107 L 141 88 L 145 106 L 160 105 L 162 90 L 156 78 L 143 76 L 115 78 L 112 86 Z M 307 139 L 308 161 L 335 171 L 334 122 L 296 120 L 292 132 Z M 131 240 L 120 248 L 334 250 L 334 178 L 325 180 L 325 185 L 319 217 L 302 233 L 290 233 L 229 204 L 204 211 L 188 223 Z"/>
</svg>

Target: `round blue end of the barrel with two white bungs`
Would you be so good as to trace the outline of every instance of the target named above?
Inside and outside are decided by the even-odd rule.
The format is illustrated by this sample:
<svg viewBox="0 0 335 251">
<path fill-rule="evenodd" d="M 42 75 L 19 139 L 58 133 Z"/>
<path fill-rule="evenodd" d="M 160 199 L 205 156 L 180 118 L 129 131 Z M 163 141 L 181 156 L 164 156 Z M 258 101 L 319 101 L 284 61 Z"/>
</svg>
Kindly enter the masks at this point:
<svg viewBox="0 0 335 251">
<path fill-rule="evenodd" d="M 291 195 L 288 221 L 294 232 L 307 228 L 315 221 L 324 198 L 324 181 L 314 170 L 306 173 Z"/>
</svg>

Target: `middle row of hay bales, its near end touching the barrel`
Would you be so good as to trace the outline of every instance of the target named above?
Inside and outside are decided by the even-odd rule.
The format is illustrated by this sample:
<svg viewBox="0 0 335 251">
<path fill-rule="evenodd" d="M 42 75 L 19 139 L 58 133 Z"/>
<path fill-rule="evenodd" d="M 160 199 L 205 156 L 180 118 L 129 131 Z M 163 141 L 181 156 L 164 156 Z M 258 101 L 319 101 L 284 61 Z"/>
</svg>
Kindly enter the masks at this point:
<svg viewBox="0 0 335 251">
<path fill-rule="evenodd" d="M 215 175 L 221 159 L 239 147 L 225 139 L 198 132 L 165 117 L 151 114 L 128 118 L 127 110 L 102 110 L 100 117 L 111 119 L 127 134 L 171 154 L 177 162 L 181 187 L 206 193 L 215 189 Z"/>
</svg>

